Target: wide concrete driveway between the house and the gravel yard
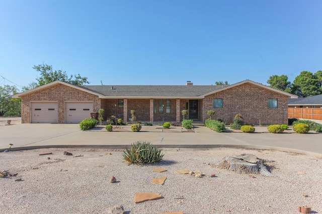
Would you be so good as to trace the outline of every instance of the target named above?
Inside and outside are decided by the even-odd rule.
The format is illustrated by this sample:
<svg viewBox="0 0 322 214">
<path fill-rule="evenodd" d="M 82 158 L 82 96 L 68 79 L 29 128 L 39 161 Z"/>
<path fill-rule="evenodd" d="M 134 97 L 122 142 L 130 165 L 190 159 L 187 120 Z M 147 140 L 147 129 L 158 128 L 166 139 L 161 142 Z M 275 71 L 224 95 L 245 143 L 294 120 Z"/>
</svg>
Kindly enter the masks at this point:
<svg viewBox="0 0 322 214">
<path fill-rule="evenodd" d="M 216 133 L 197 126 L 195 132 L 146 131 L 107 132 L 81 131 L 78 124 L 14 124 L 0 126 L 0 151 L 13 143 L 13 149 L 37 147 L 113 147 L 123 148 L 138 140 L 161 147 L 246 147 L 272 148 L 284 151 L 322 154 L 322 134 L 296 133 Z M 180 128 L 181 129 L 181 128 Z M 257 127 L 267 130 L 266 127 Z"/>
</svg>

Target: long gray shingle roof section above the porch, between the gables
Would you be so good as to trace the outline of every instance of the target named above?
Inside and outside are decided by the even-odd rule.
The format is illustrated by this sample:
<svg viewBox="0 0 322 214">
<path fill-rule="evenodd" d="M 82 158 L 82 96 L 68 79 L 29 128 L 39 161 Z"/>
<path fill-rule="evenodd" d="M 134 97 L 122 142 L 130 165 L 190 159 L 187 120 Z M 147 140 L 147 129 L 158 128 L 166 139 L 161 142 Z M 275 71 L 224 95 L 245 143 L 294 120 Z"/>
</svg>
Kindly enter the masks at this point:
<svg viewBox="0 0 322 214">
<path fill-rule="evenodd" d="M 146 97 L 193 97 L 216 91 L 226 86 L 200 85 L 113 85 L 112 86 L 78 86 L 105 96 L 146 96 Z"/>
</svg>

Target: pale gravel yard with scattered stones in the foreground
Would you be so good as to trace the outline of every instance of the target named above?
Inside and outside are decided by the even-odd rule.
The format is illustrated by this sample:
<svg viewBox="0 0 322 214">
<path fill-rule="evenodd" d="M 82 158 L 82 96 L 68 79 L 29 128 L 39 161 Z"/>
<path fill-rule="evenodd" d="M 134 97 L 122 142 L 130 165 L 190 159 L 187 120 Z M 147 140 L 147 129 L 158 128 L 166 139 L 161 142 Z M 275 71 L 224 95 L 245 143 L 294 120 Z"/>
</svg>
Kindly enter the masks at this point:
<svg viewBox="0 0 322 214">
<path fill-rule="evenodd" d="M 63 155 L 64 151 L 73 156 Z M 39 155 L 52 152 L 51 155 Z M 0 178 L 0 208 L 4 213 L 105 213 L 123 205 L 126 213 L 299 213 L 299 205 L 322 211 L 322 159 L 271 150 L 234 148 L 166 148 L 160 163 L 137 166 L 122 160 L 121 150 L 35 149 L 0 153 L 0 170 L 16 177 Z M 111 154 L 108 154 L 111 153 Z M 236 174 L 215 163 L 242 153 L 273 160 L 272 173 Z M 77 155 L 84 155 L 75 157 Z M 50 157 L 50 159 L 48 159 Z M 155 167 L 167 169 L 152 172 Z M 205 174 L 196 178 L 174 171 Z M 215 173 L 216 177 L 209 177 Z M 117 182 L 110 183 L 115 176 Z M 166 176 L 163 185 L 152 178 Z M 22 181 L 15 181 L 21 178 Z M 134 202 L 137 192 L 157 192 L 164 198 Z"/>
</svg>

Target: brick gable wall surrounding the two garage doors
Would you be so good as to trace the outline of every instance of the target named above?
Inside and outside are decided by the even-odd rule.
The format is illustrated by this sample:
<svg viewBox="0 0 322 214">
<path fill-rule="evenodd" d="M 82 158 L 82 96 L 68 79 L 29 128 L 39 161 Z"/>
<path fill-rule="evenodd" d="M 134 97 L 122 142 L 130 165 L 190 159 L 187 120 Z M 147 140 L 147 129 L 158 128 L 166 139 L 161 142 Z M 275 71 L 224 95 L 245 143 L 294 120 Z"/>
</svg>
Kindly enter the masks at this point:
<svg viewBox="0 0 322 214">
<path fill-rule="evenodd" d="M 58 123 L 65 122 L 65 101 L 93 101 L 93 111 L 98 111 L 101 100 L 81 90 L 74 89 L 62 84 L 53 85 L 48 88 L 36 91 L 21 98 L 21 122 L 30 123 L 30 102 L 31 101 L 57 101 L 58 102 Z M 89 115 L 90 118 L 90 115 Z"/>
</svg>

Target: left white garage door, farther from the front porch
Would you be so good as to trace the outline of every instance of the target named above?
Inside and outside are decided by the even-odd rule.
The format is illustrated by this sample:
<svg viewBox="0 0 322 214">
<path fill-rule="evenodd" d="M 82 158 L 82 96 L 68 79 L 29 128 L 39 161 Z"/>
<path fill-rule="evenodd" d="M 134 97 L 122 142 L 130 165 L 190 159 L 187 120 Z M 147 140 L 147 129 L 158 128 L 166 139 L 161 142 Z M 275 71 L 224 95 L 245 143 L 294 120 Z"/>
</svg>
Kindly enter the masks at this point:
<svg viewBox="0 0 322 214">
<path fill-rule="evenodd" d="M 58 123 L 57 102 L 31 102 L 31 123 Z"/>
</svg>

